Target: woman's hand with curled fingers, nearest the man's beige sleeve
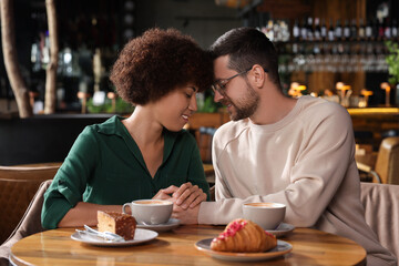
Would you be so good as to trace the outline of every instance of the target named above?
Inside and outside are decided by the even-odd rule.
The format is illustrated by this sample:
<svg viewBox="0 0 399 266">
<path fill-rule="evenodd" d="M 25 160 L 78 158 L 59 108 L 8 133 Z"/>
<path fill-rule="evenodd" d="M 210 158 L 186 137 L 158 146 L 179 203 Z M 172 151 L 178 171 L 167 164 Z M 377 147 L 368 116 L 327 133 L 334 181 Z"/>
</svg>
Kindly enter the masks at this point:
<svg viewBox="0 0 399 266">
<path fill-rule="evenodd" d="M 197 206 L 203 201 L 206 201 L 206 194 L 197 185 L 192 185 L 187 182 L 181 185 L 172 194 L 175 205 L 180 206 L 183 209 L 193 208 Z"/>
</svg>

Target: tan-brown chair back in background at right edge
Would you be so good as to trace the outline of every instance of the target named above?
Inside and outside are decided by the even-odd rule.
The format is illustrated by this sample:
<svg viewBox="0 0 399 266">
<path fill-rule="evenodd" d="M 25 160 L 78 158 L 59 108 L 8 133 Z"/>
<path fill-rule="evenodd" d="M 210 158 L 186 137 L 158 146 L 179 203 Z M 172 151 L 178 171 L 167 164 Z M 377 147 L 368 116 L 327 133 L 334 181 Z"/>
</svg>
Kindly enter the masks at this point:
<svg viewBox="0 0 399 266">
<path fill-rule="evenodd" d="M 382 140 L 375 171 L 383 184 L 399 185 L 399 136 Z"/>
</svg>

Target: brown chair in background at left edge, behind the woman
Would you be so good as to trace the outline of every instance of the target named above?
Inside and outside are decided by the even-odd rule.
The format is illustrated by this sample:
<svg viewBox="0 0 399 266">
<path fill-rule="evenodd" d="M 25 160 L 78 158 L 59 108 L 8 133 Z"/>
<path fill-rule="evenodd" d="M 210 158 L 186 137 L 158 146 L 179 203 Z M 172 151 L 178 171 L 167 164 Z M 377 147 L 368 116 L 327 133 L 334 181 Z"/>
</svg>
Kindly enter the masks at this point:
<svg viewBox="0 0 399 266">
<path fill-rule="evenodd" d="M 40 184 L 58 170 L 59 165 L 0 166 L 0 243 L 16 228 Z"/>
</svg>

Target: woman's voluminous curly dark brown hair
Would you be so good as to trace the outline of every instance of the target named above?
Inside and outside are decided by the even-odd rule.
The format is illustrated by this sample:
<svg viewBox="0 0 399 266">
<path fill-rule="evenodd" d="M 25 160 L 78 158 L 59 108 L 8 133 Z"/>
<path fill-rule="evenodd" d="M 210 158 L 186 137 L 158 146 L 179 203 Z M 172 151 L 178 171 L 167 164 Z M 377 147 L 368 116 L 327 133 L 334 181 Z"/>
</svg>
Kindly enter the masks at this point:
<svg viewBox="0 0 399 266">
<path fill-rule="evenodd" d="M 127 42 L 110 75 L 117 94 L 133 105 L 155 102 L 188 83 L 204 91 L 213 78 L 212 58 L 193 38 L 158 28 Z"/>
</svg>

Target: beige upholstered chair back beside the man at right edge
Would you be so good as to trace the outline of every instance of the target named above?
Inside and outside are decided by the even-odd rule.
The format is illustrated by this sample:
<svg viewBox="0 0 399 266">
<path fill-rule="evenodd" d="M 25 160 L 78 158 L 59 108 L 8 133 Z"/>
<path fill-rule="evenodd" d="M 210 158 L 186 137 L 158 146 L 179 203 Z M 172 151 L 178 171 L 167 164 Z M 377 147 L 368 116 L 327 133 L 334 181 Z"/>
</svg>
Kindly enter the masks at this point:
<svg viewBox="0 0 399 266">
<path fill-rule="evenodd" d="M 360 200 L 367 224 L 383 247 L 399 256 L 399 185 L 361 182 Z"/>
</svg>

